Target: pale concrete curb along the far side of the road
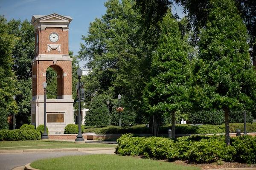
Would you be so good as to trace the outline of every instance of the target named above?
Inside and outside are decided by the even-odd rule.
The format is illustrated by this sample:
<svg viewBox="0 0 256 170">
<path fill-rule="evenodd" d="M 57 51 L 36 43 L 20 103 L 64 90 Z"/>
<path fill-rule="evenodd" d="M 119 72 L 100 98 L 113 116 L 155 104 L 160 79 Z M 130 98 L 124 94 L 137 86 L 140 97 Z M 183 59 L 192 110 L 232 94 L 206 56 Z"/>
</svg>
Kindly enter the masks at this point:
<svg viewBox="0 0 256 170">
<path fill-rule="evenodd" d="M 113 150 L 114 147 L 83 147 L 60 149 L 26 149 L 26 150 L 0 150 L 0 153 L 41 153 L 41 152 L 85 152 L 92 150 Z"/>
</svg>

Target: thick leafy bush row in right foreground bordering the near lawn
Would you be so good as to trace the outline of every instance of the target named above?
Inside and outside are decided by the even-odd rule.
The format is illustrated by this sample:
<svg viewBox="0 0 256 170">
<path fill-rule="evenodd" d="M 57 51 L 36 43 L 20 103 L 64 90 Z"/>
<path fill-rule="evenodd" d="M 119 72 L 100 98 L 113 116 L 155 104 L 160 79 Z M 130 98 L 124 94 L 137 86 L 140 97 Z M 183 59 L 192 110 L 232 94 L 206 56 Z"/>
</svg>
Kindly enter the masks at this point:
<svg viewBox="0 0 256 170">
<path fill-rule="evenodd" d="M 184 136 L 177 140 L 161 137 L 133 137 L 122 135 L 117 139 L 116 153 L 122 156 L 145 156 L 169 161 L 184 160 L 194 163 L 217 161 L 256 163 L 256 137 L 231 138 L 226 146 L 224 136 Z"/>
</svg>

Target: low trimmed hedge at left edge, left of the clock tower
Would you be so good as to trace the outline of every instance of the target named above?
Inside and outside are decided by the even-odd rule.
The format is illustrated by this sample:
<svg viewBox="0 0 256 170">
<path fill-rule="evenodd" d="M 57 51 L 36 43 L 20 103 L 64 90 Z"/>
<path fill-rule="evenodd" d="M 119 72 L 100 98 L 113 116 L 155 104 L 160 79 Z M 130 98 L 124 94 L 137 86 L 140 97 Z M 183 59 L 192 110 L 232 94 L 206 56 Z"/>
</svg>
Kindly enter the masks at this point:
<svg viewBox="0 0 256 170">
<path fill-rule="evenodd" d="M 41 134 L 35 130 L 0 130 L 0 140 L 6 141 L 25 141 L 40 140 Z"/>
</svg>

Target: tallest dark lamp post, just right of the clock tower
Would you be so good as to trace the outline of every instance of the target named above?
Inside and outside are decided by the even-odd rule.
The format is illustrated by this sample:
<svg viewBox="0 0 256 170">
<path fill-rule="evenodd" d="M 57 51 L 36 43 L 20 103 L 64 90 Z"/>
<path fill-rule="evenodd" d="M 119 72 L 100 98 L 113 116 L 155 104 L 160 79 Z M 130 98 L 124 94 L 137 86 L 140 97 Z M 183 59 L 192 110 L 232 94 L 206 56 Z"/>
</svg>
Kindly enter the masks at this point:
<svg viewBox="0 0 256 170">
<path fill-rule="evenodd" d="M 84 142 L 83 135 L 81 133 L 81 96 L 80 96 L 80 80 L 83 71 L 81 68 L 78 68 L 76 71 L 78 75 L 78 134 L 76 136 L 76 142 Z"/>
</svg>

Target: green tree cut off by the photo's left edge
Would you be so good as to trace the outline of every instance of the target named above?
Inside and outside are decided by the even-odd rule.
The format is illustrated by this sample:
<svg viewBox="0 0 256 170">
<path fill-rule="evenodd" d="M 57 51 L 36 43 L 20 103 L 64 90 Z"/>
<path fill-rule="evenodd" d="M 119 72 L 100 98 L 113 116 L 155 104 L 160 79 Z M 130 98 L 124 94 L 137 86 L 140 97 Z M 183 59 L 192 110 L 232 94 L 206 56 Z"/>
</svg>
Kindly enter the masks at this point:
<svg viewBox="0 0 256 170">
<path fill-rule="evenodd" d="M 12 70 L 12 50 L 16 37 L 8 32 L 7 21 L 0 16 L 0 129 L 8 129 L 8 114 L 17 113 L 12 96 L 18 93 L 15 72 Z"/>
</svg>

